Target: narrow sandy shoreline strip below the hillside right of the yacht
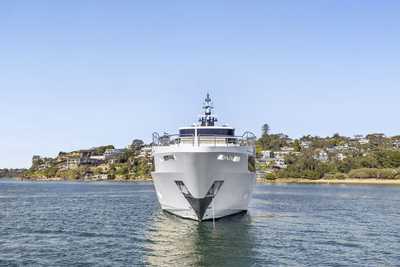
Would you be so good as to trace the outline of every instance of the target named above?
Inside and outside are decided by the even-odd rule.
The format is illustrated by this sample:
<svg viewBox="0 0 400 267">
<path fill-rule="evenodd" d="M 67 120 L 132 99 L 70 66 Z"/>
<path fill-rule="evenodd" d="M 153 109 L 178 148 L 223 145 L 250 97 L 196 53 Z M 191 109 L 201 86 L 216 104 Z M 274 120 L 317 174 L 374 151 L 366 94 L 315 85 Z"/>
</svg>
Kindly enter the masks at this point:
<svg viewBox="0 0 400 267">
<path fill-rule="evenodd" d="M 257 184 L 349 184 L 349 185 L 400 185 L 400 179 L 304 179 L 304 178 L 277 178 L 274 180 L 257 179 Z"/>
</svg>

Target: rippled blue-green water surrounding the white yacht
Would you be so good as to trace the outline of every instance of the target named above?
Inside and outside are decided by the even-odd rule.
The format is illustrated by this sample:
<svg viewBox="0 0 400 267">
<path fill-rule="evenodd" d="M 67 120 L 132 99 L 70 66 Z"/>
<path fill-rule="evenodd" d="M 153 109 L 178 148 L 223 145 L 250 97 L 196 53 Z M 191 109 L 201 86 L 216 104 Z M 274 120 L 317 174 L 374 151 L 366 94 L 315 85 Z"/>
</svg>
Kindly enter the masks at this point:
<svg viewBox="0 0 400 267">
<path fill-rule="evenodd" d="M 0 180 L 0 265 L 400 265 L 400 187 L 257 185 L 213 229 L 161 212 L 151 183 Z"/>
</svg>

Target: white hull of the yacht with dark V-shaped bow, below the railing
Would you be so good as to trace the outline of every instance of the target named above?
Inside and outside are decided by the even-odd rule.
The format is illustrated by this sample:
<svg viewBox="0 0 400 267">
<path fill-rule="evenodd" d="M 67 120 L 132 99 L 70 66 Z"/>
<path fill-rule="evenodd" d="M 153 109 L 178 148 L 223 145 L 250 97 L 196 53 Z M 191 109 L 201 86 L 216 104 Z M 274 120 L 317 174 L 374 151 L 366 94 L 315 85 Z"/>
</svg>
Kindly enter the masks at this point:
<svg viewBox="0 0 400 267">
<path fill-rule="evenodd" d="M 163 210 L 198 221 L 247 210 L 255 174 L 248 171 L 249 153 L 243 147 L 164 149 L 153 155 L 152 176 Z"/>
</svg>

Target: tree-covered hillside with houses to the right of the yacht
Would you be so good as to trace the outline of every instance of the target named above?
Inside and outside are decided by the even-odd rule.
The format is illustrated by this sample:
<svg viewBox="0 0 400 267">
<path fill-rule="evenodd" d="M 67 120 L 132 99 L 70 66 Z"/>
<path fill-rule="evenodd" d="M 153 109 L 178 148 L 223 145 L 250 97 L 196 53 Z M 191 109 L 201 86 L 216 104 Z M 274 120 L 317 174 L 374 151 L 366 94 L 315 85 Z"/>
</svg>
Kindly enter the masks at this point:
<svg viewBox="0 0 400 267">
<path fill-rule="evenodd" d="M 285 134 L 271 134 L 269 125 L 264 124 L 256 143 L 258 158 L 264 151 L 270 151 L 271 155 L 285 149 L 290 152 L 282 158 L 283 167 L 274 168 L 273 158 L 257 166 L 260 171 L 267 168 L 266 179 L 400 179 L 399 140 L 400 136 L 383 134 L 357 138 L 340 134 L 326 138 L 306 135 L 293 140 Z"/>
</svg>

